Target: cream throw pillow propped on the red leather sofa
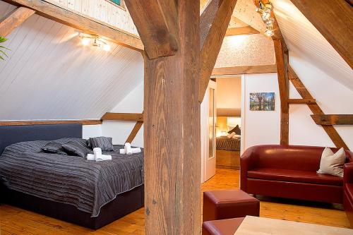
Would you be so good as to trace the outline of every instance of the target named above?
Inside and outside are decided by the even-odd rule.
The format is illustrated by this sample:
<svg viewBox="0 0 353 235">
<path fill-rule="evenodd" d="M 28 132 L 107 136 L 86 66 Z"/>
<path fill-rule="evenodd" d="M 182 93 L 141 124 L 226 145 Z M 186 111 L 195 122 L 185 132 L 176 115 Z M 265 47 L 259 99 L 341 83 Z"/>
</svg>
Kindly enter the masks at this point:
<svg viewBox="0 0 353 235">
<path fill-rule="evenodd" d="M 346 154 L 343 147 L 335 154 L 329 147 L 325 147 L 321 155 L 320 169 L 318 174 L 331 174 L 333 176 L 343 177 L 343 165 L 346 161 Z"/>
</svg>

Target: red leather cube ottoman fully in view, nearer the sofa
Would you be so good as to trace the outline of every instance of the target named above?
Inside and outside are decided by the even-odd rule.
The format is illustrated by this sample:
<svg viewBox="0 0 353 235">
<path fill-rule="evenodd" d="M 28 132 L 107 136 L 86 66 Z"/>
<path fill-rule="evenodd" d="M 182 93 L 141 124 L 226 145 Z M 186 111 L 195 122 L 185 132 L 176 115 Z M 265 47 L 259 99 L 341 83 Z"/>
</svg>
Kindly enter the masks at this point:
<svg viewBox="0 0 353 235">
<path fill-rule="evenodd" d="M 239 189 L 203 193 L 203 222 L 259 214 L 260 201 Z"/>
</svg>

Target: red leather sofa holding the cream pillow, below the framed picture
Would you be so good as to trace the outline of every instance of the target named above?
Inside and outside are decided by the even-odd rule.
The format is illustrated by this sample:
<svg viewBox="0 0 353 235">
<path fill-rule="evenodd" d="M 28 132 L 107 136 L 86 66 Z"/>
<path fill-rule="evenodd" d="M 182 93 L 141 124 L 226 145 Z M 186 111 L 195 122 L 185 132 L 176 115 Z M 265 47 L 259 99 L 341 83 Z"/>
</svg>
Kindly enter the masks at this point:
<svg viewBox="0 0 353 235">
<path fill-rule="evenodd" d="M 249 147 L 240 158 L 240 188 L 258 195 L 343 203 L 343 179 L 316 173 L 323 149 L 294 145 Z M 353 162 L 353 152 L 346 150 L 345 153 L 347 162 Z M 352 178 L 349 182 L 353 182 Z M 347 192 L 352 193 L 352 185 L 347 185 L 350 188 Z"/>
</svg>

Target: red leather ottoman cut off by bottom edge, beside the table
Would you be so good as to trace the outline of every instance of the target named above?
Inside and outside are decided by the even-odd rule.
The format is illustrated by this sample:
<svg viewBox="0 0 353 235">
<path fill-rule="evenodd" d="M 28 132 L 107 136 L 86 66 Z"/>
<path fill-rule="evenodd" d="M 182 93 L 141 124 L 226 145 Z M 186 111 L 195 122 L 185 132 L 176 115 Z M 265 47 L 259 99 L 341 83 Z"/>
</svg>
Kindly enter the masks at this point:
<svg viewBox="0 0 353 235">
<path fill-rule="evenodd" d="M 202 235 L 234 235 L 244 218 L 221 219 L 203 222 Z"/>
</svg>

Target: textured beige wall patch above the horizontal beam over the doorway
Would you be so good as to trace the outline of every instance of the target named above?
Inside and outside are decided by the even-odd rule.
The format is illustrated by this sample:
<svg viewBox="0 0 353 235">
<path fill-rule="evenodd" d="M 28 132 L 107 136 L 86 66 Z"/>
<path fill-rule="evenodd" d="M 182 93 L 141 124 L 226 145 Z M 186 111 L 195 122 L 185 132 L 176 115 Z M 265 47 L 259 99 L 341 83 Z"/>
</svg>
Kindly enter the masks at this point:
<svg viewBox="0 0 353 235">
<path fill-rule="evenodd" d="M 225 37 L 215 68 L 275 64 L 273 41 L 265 35 Z"/>
</svg>

